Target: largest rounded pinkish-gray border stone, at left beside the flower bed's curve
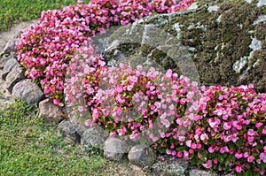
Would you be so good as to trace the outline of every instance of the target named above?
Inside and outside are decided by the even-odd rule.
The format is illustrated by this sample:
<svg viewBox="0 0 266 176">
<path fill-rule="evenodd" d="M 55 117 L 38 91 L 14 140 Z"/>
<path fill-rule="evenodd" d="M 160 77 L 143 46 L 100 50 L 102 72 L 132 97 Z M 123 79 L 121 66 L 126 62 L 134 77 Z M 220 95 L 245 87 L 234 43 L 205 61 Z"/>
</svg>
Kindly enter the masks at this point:
<svg viewBox="0 0 266 176">
<path fill-rule="evenodd" d="M 39 103 L 43 99 L 43 91 L 31 80 L 21 80 L 12 89 L 12 96 L 21 99 L 27 104 Z"/>
</svg>

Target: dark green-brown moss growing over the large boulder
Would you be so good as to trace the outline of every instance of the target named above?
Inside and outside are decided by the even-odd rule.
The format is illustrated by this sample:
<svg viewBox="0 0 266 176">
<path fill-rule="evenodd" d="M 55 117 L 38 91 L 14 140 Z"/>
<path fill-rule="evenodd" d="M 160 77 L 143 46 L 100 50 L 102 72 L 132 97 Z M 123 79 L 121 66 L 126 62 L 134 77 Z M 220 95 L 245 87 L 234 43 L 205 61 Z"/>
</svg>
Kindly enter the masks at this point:
<svg viewBox="0 0 266 176">
<path fill-rule="evenodd" d="M 164 69 L 171 68 L 179 74 L 183 74 L 181 71 L 193 70 L 190 62 L 192 58 L 200 74 L 201 85 L 239 86 L 253 82 L 257 91 L 265 91 L 266 81 L 262 78 L 266 71 L 262 69 L 263 64 L 257 67 L 245 65 L 240 73 L 233 70 L 233 65 L 241 57 L 250 56 L 252 49 L 249 45 L 254 37 L 262 41 L 264 50 L 260 50 L 260 54 L 259 51 L 254 52 L 251 58 L 254 61 L 250 63 L 265 59 L 266 27 L 262 22 L 254 25 L 254 21 L 265 13 L 265 5 L 257 8 L 257 1 L 248 4 L 243 0 L 220 0 L 215 3 L 211 0 L 198 0 L 197 4 L 200 8 L 196 11 L 175 15 L 171 19 L 163 16 L 163 20 L 168 19 L 166 25 L 160 25 L 163 21 L 160 18 L 145 19 L 142 25 L 158 25 L 155 29 L 159 28 L 159 31 L 154 29 L 154 34 L 149 34 L 153 42 L 140 46 L 133 51 L 132 56 L 148 57 Z M 218 11 L 207 11 L 208 6 L 213 4 L 218 5 Z M 181 28 L 178 33 L 174 27 L 177 23 Z M 169 34 L 172 38 L 165 40 L 161 37 L 164 34 Z M 179 40 L 176 42 L 177 34 Z M 186 50 L 155 50 L 159 44 L 162 47 L 170 45 L 178 48 L 175 43 L 179 42 Z M 187 57 L 189 54 L 192 56 Z M 178 57 L 178 62 L 173 55 Z"/>
</svg>

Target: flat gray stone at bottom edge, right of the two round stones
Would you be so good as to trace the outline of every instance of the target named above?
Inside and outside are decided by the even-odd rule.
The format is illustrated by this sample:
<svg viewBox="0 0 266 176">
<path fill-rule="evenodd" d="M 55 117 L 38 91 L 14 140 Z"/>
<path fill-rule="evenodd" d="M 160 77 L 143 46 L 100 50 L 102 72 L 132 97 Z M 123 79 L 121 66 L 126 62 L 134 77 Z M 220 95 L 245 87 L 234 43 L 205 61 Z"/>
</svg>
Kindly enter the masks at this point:
<svg viewBox="0 0 266 176">
<path fill-rule="evenodd" d="M 157 161 L 152 169 L 155 175 L 184 176 L 188 169 L 188 162 L 183 158 L 167 158 L 166 161 Z"/>
</svg>

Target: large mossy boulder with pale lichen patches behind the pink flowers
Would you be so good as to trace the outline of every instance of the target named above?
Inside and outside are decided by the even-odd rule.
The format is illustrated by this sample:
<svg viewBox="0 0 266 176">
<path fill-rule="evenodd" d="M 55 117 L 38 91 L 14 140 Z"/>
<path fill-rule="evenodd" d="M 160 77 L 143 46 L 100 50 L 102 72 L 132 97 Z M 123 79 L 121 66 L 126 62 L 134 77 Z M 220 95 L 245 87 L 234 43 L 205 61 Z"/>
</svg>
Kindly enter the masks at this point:
<svg viewBox="0 0 266 176">
<path fill-rule="evenodd" d="M 186 11 L 118 28 L 105 51 L 108 65 L 171 68 L 200 85 L 254 83 L 265 92 L 266 3 L 198 0 Z"/>
</svg>

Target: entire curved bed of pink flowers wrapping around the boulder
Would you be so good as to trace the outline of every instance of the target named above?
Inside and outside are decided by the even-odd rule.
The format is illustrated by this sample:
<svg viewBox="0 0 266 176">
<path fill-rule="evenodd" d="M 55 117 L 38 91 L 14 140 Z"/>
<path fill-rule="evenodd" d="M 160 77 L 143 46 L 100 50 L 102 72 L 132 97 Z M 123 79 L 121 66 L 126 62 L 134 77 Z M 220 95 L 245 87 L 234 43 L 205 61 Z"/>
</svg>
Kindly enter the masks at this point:
<svg viewBox="0 0 266 176">
<path fill-rule="evenodd" d="M 160 153 L 184 157 L 216 172 L 263 175 L 265 94 L 257 94 L 253 85 L 200 91 L 196 82 L 171 70 L 161 74 L 155 68 L 145 72 L 141 66 L 108 67 L 91 45 L 90 36 L 104 33 L 107 27 L 182 10 L 190 3 L 98 0 L 44 11 L 38 24 L 20 35 L 18 57 L 27 76 L 54 103 L 61 103 L 65 91 L 66 101 L 78 113 L 89 111 L 88 126 L 96 123 L 112 136 L 134 142 L 145 136 Z M 108 83 L 112 86 L 103 89 Z M 137 119 L 124 116 L 138 102 Z"/>
</svg>

